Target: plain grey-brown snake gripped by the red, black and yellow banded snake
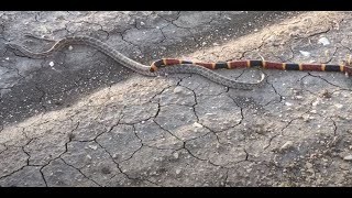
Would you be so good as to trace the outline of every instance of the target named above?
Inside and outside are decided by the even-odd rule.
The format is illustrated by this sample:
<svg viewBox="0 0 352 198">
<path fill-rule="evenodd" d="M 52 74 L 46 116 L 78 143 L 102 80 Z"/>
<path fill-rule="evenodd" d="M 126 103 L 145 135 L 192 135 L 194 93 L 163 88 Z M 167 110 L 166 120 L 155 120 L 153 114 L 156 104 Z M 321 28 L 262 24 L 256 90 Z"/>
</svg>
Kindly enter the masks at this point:
<svg viewBox="0 0 352 198">
<path fill-rule="evenodd" d="M 25 35 L 25 36 L 36 37 L 34 35 Z M 36 38 L 47 40 L 42 37 L 36 37 Z M 121 54 L 120 52 L 118 52 L 116 48 L 111 47 L 107 43 L 87 35 L 72 35 L 72 36 L 65 36 L 57 41 L 55 40 L 48 40 L 48 41 L 53 41 L 55 42 L 55 44 L 50 50 L 43 51 L 43 52 L 32 52 L 25 46 L 22 46 L 20 44 L 12 43 L 12 42 L 7 43 L 7 46 L 13 51 L 20 52 L 26 57 L 45 58 L 53 55 L 55 52 L 63 50 L 65 46 L 68 46 L 72 44 L 81 44 L 81 45 L 88 45 L 92 48 L 96 48 L 97 51 L 106 54 L 107 56 L 111 57 L 112 59 L 120 63 L 121 65 L 144 76 L 156 77 L 156 76 L 167 76 L 168 74 L 197 74 L 197 75 L 204 76 L 205 78 L 208 78 L 211 81 L 223 85 L 226 87 L 230 87 L 234 89 L 245 89 L 245 90 L 261 87 L 265 82 L 264 73 L 262 73 L 261 79 L 257 82 L 242 82 L 242 81 L 228 78 L 223 75 L 220 75 L 219 73 L 216 73 L 212 69 L 209 69 L 202 65 L 199 65 L 199 64 L 197 65 L 190 62 L 173 64 L 172 67 L 163 67 L 163 68 L 155 67 L 156 66 L 155 62 L 152 65 L 143 65 Z M 167 61 L 167 63 L 169 62 Z"/>
</svg>

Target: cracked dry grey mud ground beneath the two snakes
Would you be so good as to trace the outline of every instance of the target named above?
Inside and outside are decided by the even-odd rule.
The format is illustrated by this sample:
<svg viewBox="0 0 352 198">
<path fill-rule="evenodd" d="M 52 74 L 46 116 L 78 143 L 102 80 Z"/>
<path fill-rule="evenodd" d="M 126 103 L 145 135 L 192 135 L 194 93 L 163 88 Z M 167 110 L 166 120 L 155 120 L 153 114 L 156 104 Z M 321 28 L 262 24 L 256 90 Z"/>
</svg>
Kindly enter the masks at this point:
<svg viewBox="0 0 352 198">
<path fill-rule="evenodd" d="M 45 59 L 6 48 L 98 37 L 161 57 L 340 63 L 352 12 L 1 12 L 0 186 L 352 186 L 352 79 L 264 70 L 238 90 L 144 77 L 87 46 Z M 329 44 L 321 44 L 328 38 Z M 219 70 L 255 81 L 256 69 Z"/>
</svg>

